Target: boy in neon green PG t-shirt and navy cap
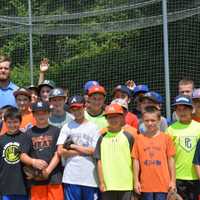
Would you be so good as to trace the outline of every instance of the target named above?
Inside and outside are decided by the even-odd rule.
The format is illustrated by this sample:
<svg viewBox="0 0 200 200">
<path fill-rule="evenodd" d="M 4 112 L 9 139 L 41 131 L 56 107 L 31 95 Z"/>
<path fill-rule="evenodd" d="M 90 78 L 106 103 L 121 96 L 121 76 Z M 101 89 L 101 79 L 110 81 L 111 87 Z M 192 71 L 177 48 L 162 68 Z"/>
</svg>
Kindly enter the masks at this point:
<svg viewBox="0 0 200 200">
<path fill-rule="evenodd" d="M 193 107 L 189 96 L 177 96 L 173 106 L 179 120 L 167 129 L 167 133 L 171 135 L 176 146 L 177 190 L 183 199 L 196 200 L 198 177 L 192 161 L 200 138 L 200 123 L 192 120 Z"/>
</svg>

